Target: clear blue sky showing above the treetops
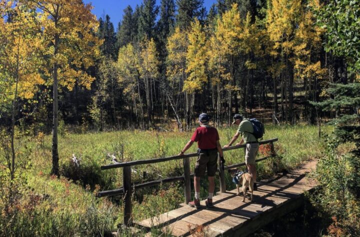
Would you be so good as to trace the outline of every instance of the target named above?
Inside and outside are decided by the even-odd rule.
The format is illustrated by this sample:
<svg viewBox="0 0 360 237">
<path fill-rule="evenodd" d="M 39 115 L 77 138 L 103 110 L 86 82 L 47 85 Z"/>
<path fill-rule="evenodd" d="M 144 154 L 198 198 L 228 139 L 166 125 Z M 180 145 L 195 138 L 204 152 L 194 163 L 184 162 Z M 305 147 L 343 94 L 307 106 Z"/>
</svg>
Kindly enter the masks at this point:
<svg viewBox="0 0 360 237">
<path fill-rule="evenodd" d="M 130 5 L 132 9 L 135 8 L 136 4 L 140 5 L 142 0 L 83 0 L 85 3 L 91 2 L 94 8 L 92 13 L 96 15 L 97 18 L 103 17 L 103 15 L 108 14 L 110 16 L 111 22 L 114 25 L 116 30 L 117 23 L 122 19 L 123 9 L 127 5 Z M 204 6 L 208 11 L 212 3 L 216 0 L 204 0 Z M 160 0 L 156 0 L 156 4 L 160 5 Z"/>
</svg>

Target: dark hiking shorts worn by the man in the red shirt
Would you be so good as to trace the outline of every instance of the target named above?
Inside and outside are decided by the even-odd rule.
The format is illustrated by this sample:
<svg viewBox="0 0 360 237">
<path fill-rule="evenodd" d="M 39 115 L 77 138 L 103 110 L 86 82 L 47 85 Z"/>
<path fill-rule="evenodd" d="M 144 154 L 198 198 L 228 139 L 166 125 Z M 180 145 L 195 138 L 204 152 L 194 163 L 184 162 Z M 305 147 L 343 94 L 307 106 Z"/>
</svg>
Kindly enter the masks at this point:
<svg viewBox="0 0 360 237">
<path fill-rule="evenodd" d="M 207 176 L 215 176 L 217 171 L 217 149 L 197 150 L 198 157 L 195 163 L 195 177 L 202 177 L 205 175 L 207 169 Z"/>
</svg>

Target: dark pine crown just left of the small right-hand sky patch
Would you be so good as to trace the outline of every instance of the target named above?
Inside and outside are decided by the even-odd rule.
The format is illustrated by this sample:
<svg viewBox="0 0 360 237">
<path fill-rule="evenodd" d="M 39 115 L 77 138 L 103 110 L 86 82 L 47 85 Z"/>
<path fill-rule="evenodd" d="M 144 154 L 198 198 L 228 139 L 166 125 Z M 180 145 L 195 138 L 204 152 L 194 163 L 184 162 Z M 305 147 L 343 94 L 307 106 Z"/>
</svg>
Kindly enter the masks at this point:
<svg viewBox="0 0 360 237">
<path fill-rule="evenodd" d="M 194 17 L 198 18 L 201 16 L 201 6 L 203 0 L 176 0 L 177 15 L 176 25 L 180 29 L 187 29 L 190 27 L 190 22 Z"/>
</svg>

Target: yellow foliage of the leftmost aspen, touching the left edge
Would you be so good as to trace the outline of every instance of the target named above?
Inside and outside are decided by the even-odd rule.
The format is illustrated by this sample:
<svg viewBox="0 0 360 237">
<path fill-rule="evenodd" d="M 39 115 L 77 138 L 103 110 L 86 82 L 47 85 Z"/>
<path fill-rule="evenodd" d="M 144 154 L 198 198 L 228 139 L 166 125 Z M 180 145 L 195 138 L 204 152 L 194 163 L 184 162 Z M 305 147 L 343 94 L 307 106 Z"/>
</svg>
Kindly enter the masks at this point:
<svg viewBox="0 0 360 237">
<path fill-rule="evenodd" d="M 11 21 L 5 21 L 4 16 Z M 37 49 L 40 27 L 36 13 L 17 1 L 0 1 L 0 104 L 6 105 L 15 96 L 33 97 L 38 85 L 44 80 L 38 68 L 40 60 Z"/>
</svg>

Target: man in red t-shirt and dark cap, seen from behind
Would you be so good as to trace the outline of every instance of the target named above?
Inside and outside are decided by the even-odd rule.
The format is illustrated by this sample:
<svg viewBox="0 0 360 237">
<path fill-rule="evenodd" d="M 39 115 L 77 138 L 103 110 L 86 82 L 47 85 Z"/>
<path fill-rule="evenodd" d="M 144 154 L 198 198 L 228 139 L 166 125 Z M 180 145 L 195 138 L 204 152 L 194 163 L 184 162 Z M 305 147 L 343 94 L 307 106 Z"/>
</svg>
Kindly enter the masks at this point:
<svg viewBox="0 0 360 237">
<path fill-rule="evenodd" d="M 179 155 L 183 155 L 184 152 L 191 147 L 194 142 L 197 142 L 197 157 L 194 172 L 194 189 L 195 199 L 189 202 L 188 205 L 194 208 L 200 208 L 200 177 L 204 176 L 207 169 L 207 178 L 209 182 L 208 197 L 205 201 L 207 207 L 211 208 L 212 196 L 215 190 L 215 173 L 217 170 L 217 152 L 219 153 L 221 160 L 223 160 L 223 154 L 221 145 L 219 143 L 219 136 L 216 128 L 210 127 L 209 116 L 205 113 L 199 115 L 200 127 L 196 128 L 190 141 L 184 146 Z"/>
</svg>

